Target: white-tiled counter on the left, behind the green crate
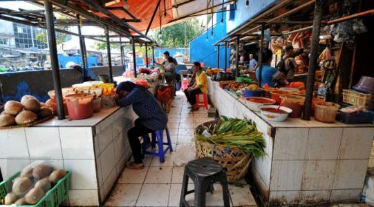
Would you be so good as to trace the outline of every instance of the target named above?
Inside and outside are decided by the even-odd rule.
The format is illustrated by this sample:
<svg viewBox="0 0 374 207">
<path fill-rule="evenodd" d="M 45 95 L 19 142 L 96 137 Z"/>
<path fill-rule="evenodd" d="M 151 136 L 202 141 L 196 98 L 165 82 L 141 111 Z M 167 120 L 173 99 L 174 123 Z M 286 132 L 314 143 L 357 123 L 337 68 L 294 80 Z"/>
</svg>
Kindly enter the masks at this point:
<svg viewBox="0 0 374 207">
<path fill-rule="evenodd" d="M 115 107 L 88 119 L 55 117 L 33 127 L 0 130 L 3 177 L 45 161 L 73 172 L 67 205 L 100 206 L 131 156 L 127 131 L 135 116 L 131 107 Z"/>
</svg>

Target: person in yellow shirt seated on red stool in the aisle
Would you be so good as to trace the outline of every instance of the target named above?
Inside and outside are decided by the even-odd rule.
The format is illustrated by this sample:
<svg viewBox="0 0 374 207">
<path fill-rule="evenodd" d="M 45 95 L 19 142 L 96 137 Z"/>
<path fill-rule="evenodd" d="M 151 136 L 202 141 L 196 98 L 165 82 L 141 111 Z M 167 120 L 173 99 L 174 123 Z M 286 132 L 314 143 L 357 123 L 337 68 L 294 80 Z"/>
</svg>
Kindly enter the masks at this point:
<svg viewBox="0 0 374 207">
<path fill-rule="evenodd" d="M 207 93 L 208 92 L 208 79 L 205 72 L 201 71 L 199 62 L 194 62 L 194 72 L 196 72 L 196 81 L 194 85 L 187 88 L 185 90 L 185 95 L 187 97 L 187 101 L 191 104 L 191 112 L 198 110 L 198 106 L 196 106 L 196 95 L 199 93 Z"/>
</svg>

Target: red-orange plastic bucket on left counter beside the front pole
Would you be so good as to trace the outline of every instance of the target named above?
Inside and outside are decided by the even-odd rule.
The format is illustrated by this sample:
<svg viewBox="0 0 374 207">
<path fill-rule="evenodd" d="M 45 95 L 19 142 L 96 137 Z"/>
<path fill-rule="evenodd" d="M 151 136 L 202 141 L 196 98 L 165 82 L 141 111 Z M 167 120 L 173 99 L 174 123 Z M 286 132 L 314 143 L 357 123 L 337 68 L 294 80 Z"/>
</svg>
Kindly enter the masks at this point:
<svg viewBox="0 0 374 207">
<path fill-rule="evenodd" d="M 93 94 L 77 93 L 66 95 L 69 119 L 87 119 L 93 115 Z"/>
</svg>

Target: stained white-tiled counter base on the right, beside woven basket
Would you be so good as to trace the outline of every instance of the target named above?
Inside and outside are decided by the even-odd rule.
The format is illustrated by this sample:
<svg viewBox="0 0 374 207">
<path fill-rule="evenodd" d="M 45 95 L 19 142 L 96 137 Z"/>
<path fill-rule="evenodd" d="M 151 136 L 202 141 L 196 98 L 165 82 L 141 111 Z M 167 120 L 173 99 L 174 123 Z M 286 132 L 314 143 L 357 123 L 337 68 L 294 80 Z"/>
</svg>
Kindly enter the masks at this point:
<svg viewBox="0 0 374 207">
<path fill-rule="evenodd" d="M 265 121 L 243 99 L 209 79 L 209 98 L 220 115 L 246 117 L 266 141 L 252 174 L 268 206 L 359 201 L 374 138 L 370 124 L 324 124 L 312 119 Z"/>
</svg>

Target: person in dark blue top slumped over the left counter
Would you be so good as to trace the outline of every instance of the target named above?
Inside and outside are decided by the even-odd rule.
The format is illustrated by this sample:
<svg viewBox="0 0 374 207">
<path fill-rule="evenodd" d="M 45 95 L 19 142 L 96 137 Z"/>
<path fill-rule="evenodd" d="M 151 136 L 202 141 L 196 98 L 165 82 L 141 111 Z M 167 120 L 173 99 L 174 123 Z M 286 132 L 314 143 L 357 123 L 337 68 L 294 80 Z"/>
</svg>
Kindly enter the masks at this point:
<svg viewBox="0 0 374 207">
<path fill-rule="evenodd" d="M 140 170 L 144 168 L 142 163 L 142 146 L 139 137 L 167 126 L 167 114 L 162 110 L 155 97 L 146 88 L 125 81 L 117 86 L 118 106 L 133 106 L 133 111 L 138 115 L 135 126 L 127 133 L 133 160 L 127 162 L 127 168 Z"/>
</svg>

